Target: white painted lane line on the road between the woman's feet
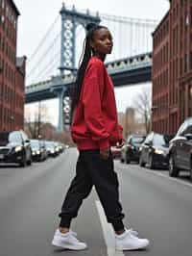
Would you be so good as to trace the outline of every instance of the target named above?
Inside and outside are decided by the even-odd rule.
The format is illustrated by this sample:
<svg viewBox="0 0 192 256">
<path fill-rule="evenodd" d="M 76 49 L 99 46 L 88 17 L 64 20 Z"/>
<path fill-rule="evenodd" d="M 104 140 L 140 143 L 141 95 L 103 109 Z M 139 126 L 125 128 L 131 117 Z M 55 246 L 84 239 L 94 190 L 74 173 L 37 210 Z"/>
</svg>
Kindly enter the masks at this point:
<svg viewBox="0 0 192 256">
<path fill-rule="evenodd" d="M 104 233 L 104 239 L 107 245 L 108 256 L 124 256 L 122 251 L 115 250 L 115 237 L 114 231 L 112 229 L 111 224 L 108 223 L 106 219 L 106 215 L 104 213 L 104 209 L 100 203 L 100 201 L 95 201 L 96 208 L 99 214 L 100 222 L 102 225 L 102 230 Z"/>
</svg>

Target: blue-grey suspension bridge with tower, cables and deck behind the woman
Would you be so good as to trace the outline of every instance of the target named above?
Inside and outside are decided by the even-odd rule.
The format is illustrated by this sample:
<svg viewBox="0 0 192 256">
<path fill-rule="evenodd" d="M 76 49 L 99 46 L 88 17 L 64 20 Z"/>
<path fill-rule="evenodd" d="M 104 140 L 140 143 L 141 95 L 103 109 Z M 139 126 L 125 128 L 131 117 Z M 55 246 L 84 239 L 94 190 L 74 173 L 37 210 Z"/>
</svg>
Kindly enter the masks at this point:
<svg viewBox="0 0 192 256">
<path fill-rule="evenodd" d="M 64 4 L 60 10 L 60 16 L 61 28 L 58 29 L 60 26 L 57 25 L 59 20 L 59 17 L 57 17 L 46 37 L 40 42 L 34 55 L 29 60 L 30 71 L 27 72 L 28 86 L 25 92 L 26 103 L 59 98 L 58 130 L 61 132 L 63 124 L 70 123 L 69 90 L 75 81 L 76 63 L 79 59 L 78 55 L 81 53 L 79 47 L 77 47 L 79 43 L 76 39 L 82 40 L 81 45 L 83 44 L 84 35 L 82 33 L 85 25 L 89 22 L 101 24 L 104 22 L 112 32 L 114 45 L 116 43 L 118 47 L 115 47 L 117 50 L 113 51 L 113 56 L 110 56 L 106 65 L 114 86 L 122 87 L 151 81 L 151 33 L 154 31 L 157 22 L 106 14 L 99 15 L 99 13 L 93 14 L 88 10 L 84 13 L 83 11 L 77 11 L 74 6 L 72 9 L 67 9 Z M 81 29 L 79 28 L 80 25 L 82 26 Z M 117 26 L 117 30 L 115 30 L 115 26 Z M 119 31 L 124 30 L 126 34 L 118 35 Z M 55 31 L 57 32 L 54 34 Z M 125 39 L 126 35 L 130 36 L 129 43 Z M 51 42 L 47 47 L 43 44 L 48 41 L 48 38 L 51 38 Z M 122 51 L 122 49 L 124 50 Z M 125 55 L 129 57 L 125 58 Z M 49 60 L 47 61 L 47 59 Z"/>
</svg>

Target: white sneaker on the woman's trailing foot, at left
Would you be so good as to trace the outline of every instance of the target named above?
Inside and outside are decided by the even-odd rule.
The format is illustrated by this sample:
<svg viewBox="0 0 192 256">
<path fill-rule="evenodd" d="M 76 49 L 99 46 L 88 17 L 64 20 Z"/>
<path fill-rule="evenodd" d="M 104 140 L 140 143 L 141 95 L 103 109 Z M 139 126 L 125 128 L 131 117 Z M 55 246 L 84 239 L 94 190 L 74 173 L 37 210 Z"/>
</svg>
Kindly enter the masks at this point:
<svg viewBox="0 0 192 256">
<path fill-rule="evenodd" d="M 76 236 L 77 234 L 71 230 L 66 234 L 62 234 L 57 229 L 52 244 L 64 249 L 84 250 L 87 247 L 86 243 L 80 242 Z"/>
</svg>

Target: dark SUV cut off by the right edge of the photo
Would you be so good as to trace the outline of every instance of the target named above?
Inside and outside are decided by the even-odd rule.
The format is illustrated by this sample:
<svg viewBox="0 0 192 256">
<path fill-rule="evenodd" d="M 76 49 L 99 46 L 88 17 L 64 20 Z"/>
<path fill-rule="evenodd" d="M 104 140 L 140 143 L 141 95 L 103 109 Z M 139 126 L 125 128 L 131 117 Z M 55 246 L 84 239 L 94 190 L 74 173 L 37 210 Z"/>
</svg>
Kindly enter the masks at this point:
<svg viewBox="0 0 192 256">
<path fill-rule="evenodd" d="M 192 117 L 187 118 L 169 146 L 169 175 L 177 177 L 180 170 L 190 171 L 192 180 Z"/>
</svg>

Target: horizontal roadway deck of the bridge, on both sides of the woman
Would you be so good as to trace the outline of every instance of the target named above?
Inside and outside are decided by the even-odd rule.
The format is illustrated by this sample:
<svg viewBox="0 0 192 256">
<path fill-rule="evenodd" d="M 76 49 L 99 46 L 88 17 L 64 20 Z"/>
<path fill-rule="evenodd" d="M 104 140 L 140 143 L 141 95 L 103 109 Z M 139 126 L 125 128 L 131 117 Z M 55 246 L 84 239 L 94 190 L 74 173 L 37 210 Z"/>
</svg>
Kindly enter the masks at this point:
<svg viewBox="0 0 192 256">
<path fill-rule="evenodd" d="M 114 61 L 106 64 L 106 66 L 115 87 L 149 82 L 151 81 L 152 53 Z M 26 87 L 26 103 L 58 97 L 54 87 L 57 84 L 62 84 L 70 89 L 74 84 L 75 77 L 73 73 L 53 76 L 50 80 Z"/>
</svg>

